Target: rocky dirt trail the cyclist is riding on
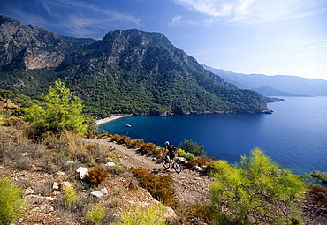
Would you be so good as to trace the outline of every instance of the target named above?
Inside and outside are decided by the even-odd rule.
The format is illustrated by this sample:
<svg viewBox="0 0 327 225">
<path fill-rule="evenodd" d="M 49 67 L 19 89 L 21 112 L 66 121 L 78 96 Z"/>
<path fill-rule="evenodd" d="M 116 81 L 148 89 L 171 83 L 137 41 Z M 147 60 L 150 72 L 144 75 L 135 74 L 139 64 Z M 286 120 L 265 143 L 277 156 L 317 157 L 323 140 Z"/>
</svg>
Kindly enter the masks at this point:
<svg viewBox="0 0 327 225">
<path fill-rule="evenodd" d="M 109 142 L 108 140 L 96 139 L 95 142 L 108 147 L 114 147 L 114 152 L 119 154 L 120 162 L 128 168 L 143 167 L 148 169 L 149 172 L 156 174 L 171 174 L 174 180 L 173 188 L 180 202 L 203 204 L 209 201 L 211 177 L 203 176 L 199 172 L 194 172 L 190 169 L 183 169 L 177 174 L 173 169 L 164 169 L 164 166 L 154 161 L 151 156 L 144 156 L 133 149 Z"/>
</svg>

